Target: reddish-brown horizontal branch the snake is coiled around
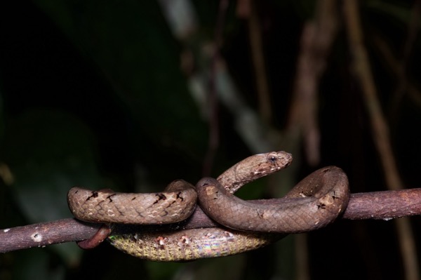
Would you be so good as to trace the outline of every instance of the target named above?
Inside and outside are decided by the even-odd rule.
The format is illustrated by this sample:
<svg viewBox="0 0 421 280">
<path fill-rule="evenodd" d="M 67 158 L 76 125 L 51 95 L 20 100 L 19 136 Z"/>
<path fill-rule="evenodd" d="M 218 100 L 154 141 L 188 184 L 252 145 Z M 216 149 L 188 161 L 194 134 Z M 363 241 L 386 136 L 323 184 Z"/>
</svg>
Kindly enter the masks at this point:
<svg viewBox="0 0 421 280">
<path fill-rule="evenodd" d="M 252 201 L 256 204 L 279 204 L 282 199 Z M 399 191 L 366 192 L 352 194 L 342 218 L 349 220 L 375 219 L 390 220 L 403 216 L 421 215 L 421 188 Z M 41 247 L 64 242 L 90 239 L 101 224 L 80 222 L 69 218 L 54 222 L 44 222 L 23 227 L 0 230 L 0 253 L 25 248 Z M 116 232 L 133 231 L 162 232 L 165 230 L 218 227 L 213 220 L 196 208 L 192 217 L 171 225 L 127 226 L 116 225 Z M 159 233 L 156 235 L 158 236 Z"/>
</svg>

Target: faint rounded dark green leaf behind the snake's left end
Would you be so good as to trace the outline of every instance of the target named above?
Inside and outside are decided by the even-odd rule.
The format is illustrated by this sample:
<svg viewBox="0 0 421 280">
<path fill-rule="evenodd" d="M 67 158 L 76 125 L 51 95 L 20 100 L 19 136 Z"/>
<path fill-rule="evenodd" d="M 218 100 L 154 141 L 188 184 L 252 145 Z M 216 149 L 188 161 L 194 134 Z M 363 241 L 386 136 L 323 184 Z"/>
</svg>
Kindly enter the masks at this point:
<svg viewBox="0 0 421 280">
<path fill-rule="evenodd" d="M 100 187 L 93 142 L 88 128 L 64 112 L 27 112 L 8 125 L 1 154 L 13 173 L 15 201 L 29 222 L 68 218 L 68 189 Z M 51 248 L 70 263 L 81 254 L 74 244 Z"/>
</svg>

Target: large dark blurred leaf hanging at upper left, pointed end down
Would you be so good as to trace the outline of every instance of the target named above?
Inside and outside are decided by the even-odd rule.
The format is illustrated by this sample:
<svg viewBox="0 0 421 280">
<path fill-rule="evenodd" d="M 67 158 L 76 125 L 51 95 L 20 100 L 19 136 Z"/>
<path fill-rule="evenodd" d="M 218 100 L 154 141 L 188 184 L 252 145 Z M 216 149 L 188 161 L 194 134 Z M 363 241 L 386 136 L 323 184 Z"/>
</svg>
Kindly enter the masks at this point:
<svg viewBox="0 0 421 280">
<path fill-rule="evenodd" d="M 195 154 L 206 149 L 182 48 L 155 1 L 35 2 L 95 61 L 145 134 Z"/>
</svg>

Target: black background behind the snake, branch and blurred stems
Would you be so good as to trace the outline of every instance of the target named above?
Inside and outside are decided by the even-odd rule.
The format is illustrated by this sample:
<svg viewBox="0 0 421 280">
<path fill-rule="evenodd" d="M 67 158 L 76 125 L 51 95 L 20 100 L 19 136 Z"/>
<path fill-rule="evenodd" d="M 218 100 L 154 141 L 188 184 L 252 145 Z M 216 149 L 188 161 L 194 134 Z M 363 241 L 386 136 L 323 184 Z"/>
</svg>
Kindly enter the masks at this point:
<svg viewBox="0 0 421 280">
<path fill-rule="evenodd" d="M 200 27 L 188 44 L 173 36 L 155 1 L 7 2 L 0 4 L 1 228 L 70 217 L 65 196 L 74 185 L 153 192 L 178 178 L 201 178 L 209 124 L 180 63 L 185 48 L 197 51 L 213 40 L 218 1 L 192 1 Z M 258 8 L 274 112 L 269 125 L 283 131 L 302 27 L 314 3 L 262 1 Z M 368 1 L 360 8 L 399 171 L 405 187 L 420 187 L 421 95 L 404 93 L 396 102 L 399 79 L 372 40 L 380 36 L 401 59 L 412 6 Z M 248 27 L 235 10 L 230 2 L 220 51 L 244 100 L 257 110 Z M 416 37 L 406 65 L 415 88 L 420 43 Z M 349 176 L 352 192 L 386 189 L 351 60 L 342 22 L 319 84 L 321 161 L 309 166 L 299 149 L 293 182 L 336 165 Z M 199 60 L 195 67 L 211 65 Z M 222 104 L 218 123 L 213 176 L 253 154 Z M 268 180 L 261 181 L 262 190 L 243 197 L 265 196 Z M 418 236 L 420 219 L 411 221 Z M 92 251 L 74 244 L 32 248 L 0 255 L 0 279 L 295 279 L 294 240 L 288 236 L 259 251 L 189 263 L 137 260 L 108 244 Z M 308 245 L 312 279 L 403 277 L 392 221 L 340 220 L 308 234 Z"/>
</svg>

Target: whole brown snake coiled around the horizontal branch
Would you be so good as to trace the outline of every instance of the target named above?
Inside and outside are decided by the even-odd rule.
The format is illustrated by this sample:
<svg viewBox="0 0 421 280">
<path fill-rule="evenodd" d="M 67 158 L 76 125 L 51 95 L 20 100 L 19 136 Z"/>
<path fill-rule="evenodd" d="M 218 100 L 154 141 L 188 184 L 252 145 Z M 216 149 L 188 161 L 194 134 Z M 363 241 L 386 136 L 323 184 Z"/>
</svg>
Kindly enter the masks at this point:
<svg viewBox="0 0 421 280">
<path fill-rule="evenodd" d="M 220 227 L 176 232 L 139 231 L 114 234 L 108 240 L 114 247 L 138 258 L 195 260 L 250 251 L 271 244 L 286 233 L 316 229 L 334 220 L 346 208 L 349 198 L 346 175 L 334 166 L 322 168 L 302 180 L 285 196 L 285 206 L 269 205 L 262 209 L 261 205 L 253 207 L 252 203 L 232 195 L 244 184 L 279 171 L 291 161 L 292 156 L 286 152 L 256 154 L 232 166 L 216 180 L 200 180 L 196 184 L 199 203 L 210 218 L 221 224 Z M 182 180 L 174 181 L 164 192 L 154 194 L 119 194 L 72 188 L 68 203 L 79 220 L 163 224 L 184 220 L 194 211 L 196 196 L 191 191 L 192 185 Z M 143 201 L 141 206 L 138 201 Z M 284 211 L 288 214 L 279 215 Z M 314 214 L 316 218 L 312 218 Z M 284 218 L 286 220 L 280 221 Z M 235 220 L 234 224 L 231 220 Z M 308 221 L 307 226 L 293 225 L 298 220 Z M 269 228 L 250 228 L 264 225 L 262 221 L 268 221 Z M 288 229 L 277 227 L 279 224 L 288 224 Z"/>
</svg>

